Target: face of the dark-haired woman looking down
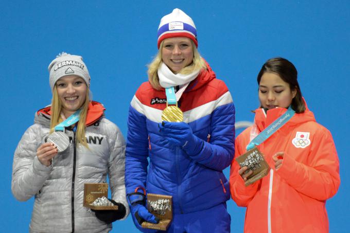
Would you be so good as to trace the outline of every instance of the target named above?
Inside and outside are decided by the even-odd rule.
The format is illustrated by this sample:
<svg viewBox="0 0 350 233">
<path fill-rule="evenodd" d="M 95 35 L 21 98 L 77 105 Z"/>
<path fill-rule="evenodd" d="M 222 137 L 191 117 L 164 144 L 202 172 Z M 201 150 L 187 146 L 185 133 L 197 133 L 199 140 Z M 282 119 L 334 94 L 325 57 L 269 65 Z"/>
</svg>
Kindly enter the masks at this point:
<svg viewBox="0 0 350 233">
<path fill-rule="evenodd" d="M 264 73 L 259 83 L 259 100 L 265 109 L 289 107 L 296 95 L 296 89 L 291 90 L 289 84 L 275 73 Z"/>
</svg>

